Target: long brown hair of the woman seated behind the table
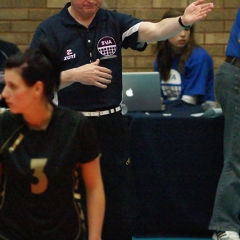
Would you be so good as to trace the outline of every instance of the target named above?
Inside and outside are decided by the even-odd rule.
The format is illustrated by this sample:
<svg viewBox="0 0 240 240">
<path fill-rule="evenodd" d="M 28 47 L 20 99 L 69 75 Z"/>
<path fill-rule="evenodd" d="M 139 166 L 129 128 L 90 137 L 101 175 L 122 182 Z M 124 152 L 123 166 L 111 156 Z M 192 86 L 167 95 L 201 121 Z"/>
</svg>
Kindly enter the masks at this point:
<svg viewBox="0 0 240 240">
<path fill-rule="evenodd" d="M 178 17 L 183 15 L 184 10 L 180 8 L 170 8 L 165 14 L 163 15 L 162 19 L 164 18 L 171 18 L 171 17 Z M 190 54 L 192 53 L 193 49 L 197 47 L 198 44 L 194 38 L 194 26 L 190 28 L 190 37 L 189 42 L 183 48 L 180 62 L 178 65 L 178 71 L 183 73 L 184 65 L 189 58 Z M 155 45 L 153 45 L 153 51 L 156 54 L 156 60 L 158 64 L 158 71 L 165 81 L 170 78 L 170 70 L 172 65 L 172 49 L 171 44 L 168 40 L 165 41 L 158 41 Z"/>
</svg>

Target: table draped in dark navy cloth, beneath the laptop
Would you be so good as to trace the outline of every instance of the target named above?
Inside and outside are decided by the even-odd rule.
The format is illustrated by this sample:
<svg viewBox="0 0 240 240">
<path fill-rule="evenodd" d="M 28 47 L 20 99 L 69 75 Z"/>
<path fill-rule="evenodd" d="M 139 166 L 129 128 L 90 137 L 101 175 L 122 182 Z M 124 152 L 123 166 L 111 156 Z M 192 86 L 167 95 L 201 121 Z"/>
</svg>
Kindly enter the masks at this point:
<svg viewBox="0 0 240 240">
<path fill-rule="evenodd" d="M 136 237 L 211 237 L 224 118 L 190 116 L 202 111 L 175 104 L 163 113 L 128 114 Z"/>
</svg>

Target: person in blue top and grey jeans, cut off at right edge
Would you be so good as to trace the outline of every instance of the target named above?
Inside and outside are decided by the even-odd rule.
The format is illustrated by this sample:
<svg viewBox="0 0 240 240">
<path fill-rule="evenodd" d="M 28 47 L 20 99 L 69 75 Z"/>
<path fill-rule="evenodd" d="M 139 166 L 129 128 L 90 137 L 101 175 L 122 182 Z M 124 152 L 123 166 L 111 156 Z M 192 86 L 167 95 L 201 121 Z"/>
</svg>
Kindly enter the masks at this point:
<svg viewBox="0 0 240 240">
<path fill-rule="evenodd" d="M 224 115 L 224 165 L 209 229 L 214 240 L 239 240 L 240 231 L 240 8 L 215 76 L 216 99 Z"/>
</svg>

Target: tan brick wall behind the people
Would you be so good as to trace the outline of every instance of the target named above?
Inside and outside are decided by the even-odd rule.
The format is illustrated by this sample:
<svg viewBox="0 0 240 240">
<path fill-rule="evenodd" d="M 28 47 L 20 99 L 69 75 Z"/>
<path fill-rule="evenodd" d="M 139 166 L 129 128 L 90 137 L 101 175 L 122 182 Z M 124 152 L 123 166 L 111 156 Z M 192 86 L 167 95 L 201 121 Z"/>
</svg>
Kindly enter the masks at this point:
<svg viewBox="0 0 240 240">
<path fill-rule="evenodd" d="M 37 25 L 57 13 L 68 0 L 0 0 L 0 38 L 27 48 Z M 192 0 L 106 0 L 109 9 L 132 14 L 149 21 L 158 21 L 171 8 L 185 8 Z M 215 70 L 224 61 L 224 51 L 239 0 L 206 0 L 215 8 L 196 23 L 196 39 L 213 57 Z M 123 50 L 124 71 L 152 71 L 154 54 L 151 44 L 142 53 Z"/>
</svg>

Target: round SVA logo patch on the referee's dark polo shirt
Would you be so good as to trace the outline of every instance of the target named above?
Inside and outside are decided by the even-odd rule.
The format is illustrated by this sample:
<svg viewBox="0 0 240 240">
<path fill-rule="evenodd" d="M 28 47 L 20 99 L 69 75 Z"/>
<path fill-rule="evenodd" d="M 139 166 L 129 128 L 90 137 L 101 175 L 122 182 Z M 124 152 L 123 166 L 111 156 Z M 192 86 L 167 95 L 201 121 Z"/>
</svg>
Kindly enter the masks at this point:
<svg viewBox="0 0 240 240">
<path fill-rule="evenodd" d="M 117 44 L 111 37 L 103 37 L 97 45 L 98 51 L 103 56 L 112 56 L 117 51 Z"/>
</svg>

